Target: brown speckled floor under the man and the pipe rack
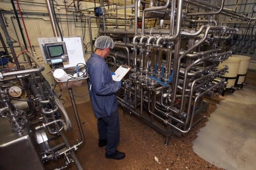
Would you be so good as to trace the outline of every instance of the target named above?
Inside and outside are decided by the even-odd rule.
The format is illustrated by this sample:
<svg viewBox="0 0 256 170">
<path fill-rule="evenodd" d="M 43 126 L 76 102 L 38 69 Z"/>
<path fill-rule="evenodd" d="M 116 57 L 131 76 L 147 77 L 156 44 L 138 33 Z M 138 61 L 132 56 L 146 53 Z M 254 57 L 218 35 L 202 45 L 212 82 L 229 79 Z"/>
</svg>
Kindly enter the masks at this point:
<svg viewBox="0 0 256 170">
<path fill-rule="evenodd" d="M 246 81 L 255 84 L 255 72 L 247 74 Z M 253 78 L 253 80 L 251 80 Z M 216 104 L 225 97 L 214 97 L 210 101 L 210 113 L 216 110 Z M 119 108 L 119 119 L 121 126 L 121 141 L 119 151 L 125 152 L 123 160 L 111 160 L 105 158 L 105 148 L 98 147 L 97 119 L 94 117 L 90 102 L 77 105 L 82 128 L 85 135 L 85 143 L 76 151 L 84 169 L 221 169 L 208 163 L 195 154 L 192 149 L 192 141 L 197 138 L 196 134 L 201 127 L 205 126 L 207 119 L 202 119 L 192 128 L 187 135 L 177 137 L 172 135 L 169 145 L 164 145 L 164 136 L 135 118 L 134 115 L 123 113 Z M 67 107 L 72 122 L 75 122 L 72 107 Z M 76 123 L 73 123 L 73 131 L 67 134 L 70 143 L 75 144 L 80 139 Z M 158 161 L 155 160 L 158 158 Z M 60 168 L 63 161 L 47 165 L 47 169 Z M 76 169 L 72 165 L 68 169 Z"/>
</svg>

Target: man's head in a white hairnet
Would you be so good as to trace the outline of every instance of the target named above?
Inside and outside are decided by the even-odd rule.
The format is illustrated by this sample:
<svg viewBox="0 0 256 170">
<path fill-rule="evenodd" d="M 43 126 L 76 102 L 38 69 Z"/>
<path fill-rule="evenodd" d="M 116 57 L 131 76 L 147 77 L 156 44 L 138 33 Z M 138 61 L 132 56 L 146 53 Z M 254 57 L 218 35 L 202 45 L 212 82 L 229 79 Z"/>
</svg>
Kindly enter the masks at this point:
<svg viewBox="0 0 256 170">
<path fill-rule="evenodd" d="M 113 39 L 109 36 L 99 36 L 94 43 L 95 53 L 105 58 L 109 55 L 110 50 L 114 48 L 114 45 Z"/>
</svg>

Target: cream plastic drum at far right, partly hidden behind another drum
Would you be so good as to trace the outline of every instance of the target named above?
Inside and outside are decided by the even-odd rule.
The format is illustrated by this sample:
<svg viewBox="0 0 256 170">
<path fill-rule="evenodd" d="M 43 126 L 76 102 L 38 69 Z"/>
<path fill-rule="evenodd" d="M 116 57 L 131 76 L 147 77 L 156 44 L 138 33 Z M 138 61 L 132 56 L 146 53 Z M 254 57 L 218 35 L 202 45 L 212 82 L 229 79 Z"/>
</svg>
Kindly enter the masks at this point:
<svg viewBox="0 0 256 170">
<path fill-rule="evenodd" d="M 243 82 L 245 82 L 245 76 L 249 67 L 251 57 L 241 55 L 232 55 L 232 57 L 241 59 L 240 67 L 237 72 L 237 81 L 235 85 L 242 85 Z"/>
</svg>

